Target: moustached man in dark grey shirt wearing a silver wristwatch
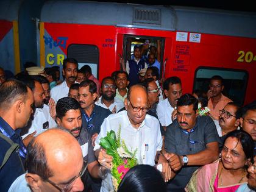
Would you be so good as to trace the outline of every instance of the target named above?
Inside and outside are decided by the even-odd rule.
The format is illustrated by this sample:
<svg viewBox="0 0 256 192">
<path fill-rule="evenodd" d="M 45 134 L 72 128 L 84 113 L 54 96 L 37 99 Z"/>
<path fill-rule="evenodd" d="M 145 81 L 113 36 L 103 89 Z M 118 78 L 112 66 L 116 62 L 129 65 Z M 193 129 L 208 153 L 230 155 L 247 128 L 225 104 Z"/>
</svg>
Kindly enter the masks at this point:
<svg viewBox="0 0 256 192">
<path fill-rule="evenodd" d="M 214 162 L 219 157 L 219 136 L 209 116 L 197 116 L 198 101 L 184 94 L 177 102 L 177 119 L 165 133 L 165 154 L 172 170 L 168 191 L 184 191 L 199 166 Z M 170 117 L 171 118 L 171 117 Z"/>
</svg>

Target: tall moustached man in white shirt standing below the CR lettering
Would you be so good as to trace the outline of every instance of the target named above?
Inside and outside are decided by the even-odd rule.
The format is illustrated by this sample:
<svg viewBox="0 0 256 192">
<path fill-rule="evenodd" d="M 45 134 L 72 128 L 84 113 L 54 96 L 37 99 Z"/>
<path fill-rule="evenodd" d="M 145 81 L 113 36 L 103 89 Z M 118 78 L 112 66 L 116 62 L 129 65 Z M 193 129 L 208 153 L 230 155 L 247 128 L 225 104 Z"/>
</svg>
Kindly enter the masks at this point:
<svg viewBox="0 0 256 192">
<path fill-rule="evenodd" d="M 66 58 L 63 60 L 62 74 L 65 76 L 65 80 L 51 90 L 51 98 L 54 99 L 55 103 L 60 98 L 68 96 L 69 87 L 76 82 L 77 71 L 78 63 L 76 59 Z"/>
</svg>

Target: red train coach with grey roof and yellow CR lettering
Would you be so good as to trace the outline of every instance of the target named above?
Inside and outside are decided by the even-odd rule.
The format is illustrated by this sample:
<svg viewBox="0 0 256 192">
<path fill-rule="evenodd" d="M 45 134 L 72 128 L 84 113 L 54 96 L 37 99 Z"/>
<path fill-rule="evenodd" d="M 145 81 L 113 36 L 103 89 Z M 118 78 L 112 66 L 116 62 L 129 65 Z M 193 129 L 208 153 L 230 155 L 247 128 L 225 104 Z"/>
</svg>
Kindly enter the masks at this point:
<svg viewBox="0 0 256 192">
<path fill-rule="evenodd" d="M 222 76 L 243 104 L 255 99 L 256 14 L 176 6 L 46 1 L 40 16 L 40 64 L 66 57 L 88 64 L 102 80 L 121 69 L 135 44 L 160 46 L 160 74 L 182 79 L 183 93 L 207 90 Z M 159 42 L 159 43 L 158 43 Z"/>
</svg>

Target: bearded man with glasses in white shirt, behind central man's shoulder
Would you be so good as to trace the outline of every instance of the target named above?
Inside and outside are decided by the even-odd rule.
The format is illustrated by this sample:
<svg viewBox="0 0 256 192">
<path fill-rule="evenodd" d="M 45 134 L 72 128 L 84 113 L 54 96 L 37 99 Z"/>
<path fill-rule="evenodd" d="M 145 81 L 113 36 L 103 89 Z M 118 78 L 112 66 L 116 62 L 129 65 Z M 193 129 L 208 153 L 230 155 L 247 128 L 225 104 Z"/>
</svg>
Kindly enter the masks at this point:
<svg viewBox="0 0 256 192">
<path fill-rule="evenodd" d="M 124 107 L 124 102 L 121 99 L 116 98 L 116 83 L 112 77 L 105 77 L 101 83 L 102 96 L 95 102 L 103 108 L 107 108 L 112 113 L 117 113 Z"/>
</svg>

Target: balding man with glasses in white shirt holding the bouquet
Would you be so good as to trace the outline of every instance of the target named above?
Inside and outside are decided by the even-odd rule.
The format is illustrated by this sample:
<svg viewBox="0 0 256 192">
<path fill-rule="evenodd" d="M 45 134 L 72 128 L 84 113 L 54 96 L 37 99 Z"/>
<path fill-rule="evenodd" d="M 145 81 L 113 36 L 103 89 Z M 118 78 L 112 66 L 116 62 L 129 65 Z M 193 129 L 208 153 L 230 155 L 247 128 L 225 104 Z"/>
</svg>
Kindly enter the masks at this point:
<svg viewBox="0 0 256 192">
<path fill-rule="evenodd" d="M 112 114 L 105 118 L 101 125 L 101 132 L 96 139 L 94 151 L 98 161 L 107 169 L 107 177 L 102 180 L 101 191 L 112 191 L 112 179 L 110 173 L 110 163 L 112 156 L 107 155 L 104 149 L 99 145 L 101 138 L 107 135 L 107 132 L 114 130 L 118 133 L 121 127 L 121 139 L 126 143 L 130 151 L 137 149 L 135 157 L 139 164 L 155 165 L 155 157 L 162 149 L 162 136 L 157 118 L 146 115 L 149 110 L 148 95 L 146 88 L 142 85 L 133 85 L 130 87 L 127 99 L 124 104 L 126 111 Z M 148 148 L 145 148 L 145 146 Z M 161 160 L 159 159 L 159 162 Z M 159 163 L 158 162 L 158 163 Z"/>
</svg>

